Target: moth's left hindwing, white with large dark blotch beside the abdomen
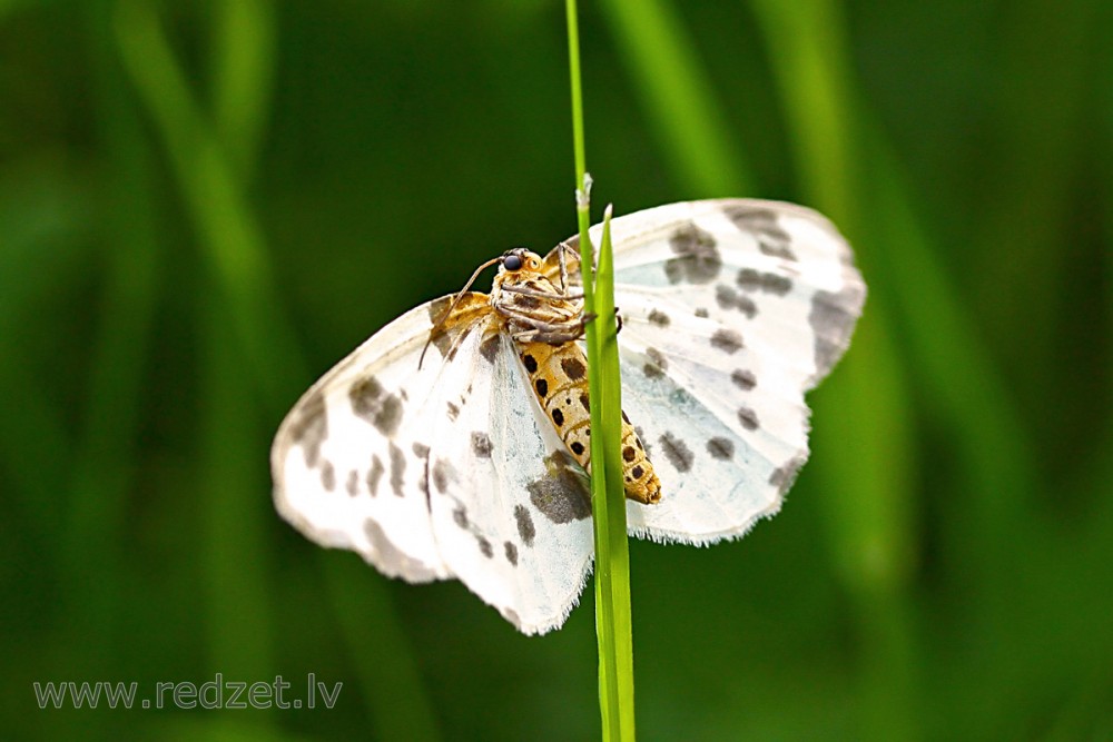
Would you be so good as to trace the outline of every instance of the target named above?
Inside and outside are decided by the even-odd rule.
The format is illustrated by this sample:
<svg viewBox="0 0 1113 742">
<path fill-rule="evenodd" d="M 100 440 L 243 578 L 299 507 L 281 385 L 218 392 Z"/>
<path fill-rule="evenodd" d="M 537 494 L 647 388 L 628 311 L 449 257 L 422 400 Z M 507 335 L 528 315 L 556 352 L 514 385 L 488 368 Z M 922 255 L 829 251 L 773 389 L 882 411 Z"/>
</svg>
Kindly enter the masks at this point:
<svg viewBox="0 0 1113 742">
<path fill-rule="evenodd" d="M 433 421 L 430 504 L 453 574 L 519 630 L 544 633 L 574 607 L 593 552 L 587 476 L 494 334 L 447 414 Z M 454 419 L 453 419 L 454 417 Z"/>
</svg>

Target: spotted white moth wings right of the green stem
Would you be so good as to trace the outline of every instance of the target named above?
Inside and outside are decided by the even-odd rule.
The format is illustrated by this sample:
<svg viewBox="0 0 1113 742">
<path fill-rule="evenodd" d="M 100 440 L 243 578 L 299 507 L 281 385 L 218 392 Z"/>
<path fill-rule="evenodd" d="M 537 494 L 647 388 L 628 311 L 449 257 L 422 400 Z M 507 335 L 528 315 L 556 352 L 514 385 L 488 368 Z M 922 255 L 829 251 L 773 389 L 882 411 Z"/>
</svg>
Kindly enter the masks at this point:
<svg viewBox="0 0 1113 742">
<path fill-rule="evenodd" d="M 770 201 L 671 204 L 611 227 L 622 403 L 662 493 L 630 504 L 630 530 L 741 536 L 779 509 L 807 461 L 804 394 L 846 349 L 865 300 L 850 248 L 823 216 Z"/>
</svg>

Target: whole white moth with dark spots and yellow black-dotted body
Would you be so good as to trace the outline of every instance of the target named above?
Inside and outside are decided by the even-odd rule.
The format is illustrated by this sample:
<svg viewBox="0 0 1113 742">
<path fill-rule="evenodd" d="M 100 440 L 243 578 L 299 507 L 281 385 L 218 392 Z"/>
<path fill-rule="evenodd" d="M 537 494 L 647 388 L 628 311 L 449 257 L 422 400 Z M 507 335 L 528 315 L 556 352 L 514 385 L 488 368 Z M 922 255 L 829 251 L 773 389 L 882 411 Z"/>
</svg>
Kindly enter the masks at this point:
<svg viewBox="0 0 1113 742">
<path fill-rule="evenodd" d="M 741 537 L 807 461 L 804 395 L 866 297 L 850 247 L 810 209 L 748 199 L 611 233 L 629 531 Z M 272 449 L 279 514 L 388 576 L 459 578 L 526 634 L 560 626 L 593 551 L 577 243 L 489 260 L 314 384 Z M 467 290 L 491 265 L 491 293 Z"/>
</svg>

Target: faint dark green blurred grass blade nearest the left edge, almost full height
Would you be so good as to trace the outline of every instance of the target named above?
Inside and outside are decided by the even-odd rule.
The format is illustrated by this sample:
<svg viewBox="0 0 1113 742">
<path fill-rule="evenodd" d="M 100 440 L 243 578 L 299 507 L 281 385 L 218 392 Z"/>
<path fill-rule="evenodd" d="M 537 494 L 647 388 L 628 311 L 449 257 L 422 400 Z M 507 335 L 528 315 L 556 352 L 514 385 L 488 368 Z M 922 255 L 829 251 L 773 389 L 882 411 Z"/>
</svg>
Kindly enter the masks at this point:
<svg viewBox="0 0 1113 742">
<path fill-rule="evenodd" d="M 152 152 L 119 69 L 107 3 L 90 2 L 85 10 L 97 129 L 109 152 L 105 177 L 112 198 L 104 240 L 107 275 L 95 309 L 96 340 L 59 550 L 63 610 L 82 626 L 79 636 L 66 637 L 70 671 L 78 674 L 109 664 L 126 641 L 128 495 L 138 469 L 141 387 L 162 261 L 151 197 Z M 88 635 L 104 639 L 88 642 Z"/>
</svg>

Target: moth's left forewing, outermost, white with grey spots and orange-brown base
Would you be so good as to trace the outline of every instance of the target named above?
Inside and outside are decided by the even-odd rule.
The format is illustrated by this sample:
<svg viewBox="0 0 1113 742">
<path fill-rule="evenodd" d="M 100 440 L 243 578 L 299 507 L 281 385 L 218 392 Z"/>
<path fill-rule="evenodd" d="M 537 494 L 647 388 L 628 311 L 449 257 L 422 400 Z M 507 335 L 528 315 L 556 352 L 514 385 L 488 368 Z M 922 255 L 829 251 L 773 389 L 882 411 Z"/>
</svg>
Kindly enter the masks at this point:
<svg viewBox="0 0 1113 742">
<path fill-rule="evenodd" d="M 466 295 L 418 368 L 449 299 L 398 317 L 322 377 L 283 421 L 270 453 L 283 517 L 410 582 L 451 576 L 430 520 L 426 425 L 477 362 L 459 354 L 460 343 L 490 319 L 485 297 Z"/>
</svg>

